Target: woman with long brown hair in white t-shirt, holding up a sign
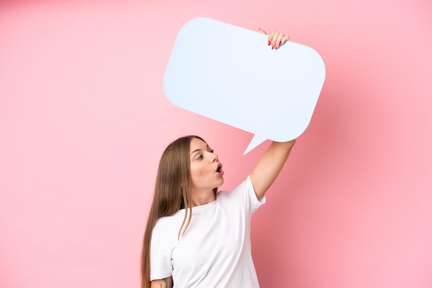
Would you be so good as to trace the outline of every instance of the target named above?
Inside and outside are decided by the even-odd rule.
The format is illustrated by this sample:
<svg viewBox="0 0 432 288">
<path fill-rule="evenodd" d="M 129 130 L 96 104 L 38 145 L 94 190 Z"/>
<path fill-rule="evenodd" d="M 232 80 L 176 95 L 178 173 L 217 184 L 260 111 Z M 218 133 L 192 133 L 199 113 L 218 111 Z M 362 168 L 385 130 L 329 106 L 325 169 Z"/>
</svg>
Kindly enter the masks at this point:
<svg viewBox="0 0 432 288">
<path fill-rule="evenodd" d="M 272 32 L 268 45 L 277 49 L 288 39 Z M 271 143 L 243 183 L 220 193 L 222 163 L 202 138 L 185 136 L 168 145 L 144 234 L 141 287 L 259 287 L 251 216 L 294 144 Z"/>
</svg>

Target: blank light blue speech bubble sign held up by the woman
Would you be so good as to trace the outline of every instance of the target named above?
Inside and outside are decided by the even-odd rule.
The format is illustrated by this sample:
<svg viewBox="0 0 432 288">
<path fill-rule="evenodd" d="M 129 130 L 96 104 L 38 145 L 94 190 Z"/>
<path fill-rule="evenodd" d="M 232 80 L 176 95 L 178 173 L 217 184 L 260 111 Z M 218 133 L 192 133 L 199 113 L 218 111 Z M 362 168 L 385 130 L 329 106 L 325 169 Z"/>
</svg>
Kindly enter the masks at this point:
<svg viewBox="0 0 432 288">
<path fill-rule="evenodd" d="M 188 111 L 255 134 L 290 141 L 306 130 L 324 84 L 320 54 L 291 41 L 208 18 L 181 28 L 164 75 L 168 99 Z"/>
</svg>

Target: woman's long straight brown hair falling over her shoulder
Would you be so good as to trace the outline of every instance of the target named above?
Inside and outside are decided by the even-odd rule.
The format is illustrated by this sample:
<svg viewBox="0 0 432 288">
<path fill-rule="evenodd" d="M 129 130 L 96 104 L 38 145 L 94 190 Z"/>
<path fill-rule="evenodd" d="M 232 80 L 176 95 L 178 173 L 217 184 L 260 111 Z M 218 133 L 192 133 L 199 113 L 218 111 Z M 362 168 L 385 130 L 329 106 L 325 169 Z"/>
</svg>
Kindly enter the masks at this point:
<svg viewBox="0 0 432 288">
<path fill-rule="evenodd" d="M 192 200 L 190 198 L 190 141 L 203 138 L 195 135 L 178 138 L 166 147 L 159 161 L 155 185 L 155 195 L 148 215 L 146 232 L 144 233 L 141 254 L 141 288 L 150 288 L 150 242 L 157 220 L 175 214 L 184 209 L 184 219 L 179 227 L 179 235 L 188 228 L 192 216 Z M 206 142 L 206 141 L 204 141 Z M 217 188 L 213 189 L 217 194 Z"/>
</svg>

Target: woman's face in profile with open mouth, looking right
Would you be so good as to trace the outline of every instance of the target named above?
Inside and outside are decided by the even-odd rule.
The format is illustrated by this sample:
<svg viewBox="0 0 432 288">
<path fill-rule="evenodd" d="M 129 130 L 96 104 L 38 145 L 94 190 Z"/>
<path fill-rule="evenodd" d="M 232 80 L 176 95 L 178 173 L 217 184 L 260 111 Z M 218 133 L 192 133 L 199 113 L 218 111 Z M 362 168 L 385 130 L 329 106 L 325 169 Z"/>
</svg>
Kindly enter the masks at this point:
<svg viewBox="0 0 432 288">
<path fill-rule="evenodd" d="M 198 138 L 190 141 L 190 176 L 192 193 L 213 193 L 214 188 L 224 184 L 224 170 L 219 158 L 207 143 Z"/>
</svg>

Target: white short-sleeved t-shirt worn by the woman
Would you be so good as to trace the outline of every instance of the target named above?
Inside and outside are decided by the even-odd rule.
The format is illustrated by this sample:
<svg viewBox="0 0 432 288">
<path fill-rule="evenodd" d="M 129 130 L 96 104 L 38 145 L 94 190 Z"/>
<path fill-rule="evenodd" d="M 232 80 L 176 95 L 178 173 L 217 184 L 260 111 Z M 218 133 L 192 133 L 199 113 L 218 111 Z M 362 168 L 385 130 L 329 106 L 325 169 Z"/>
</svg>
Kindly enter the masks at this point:
<svg viewBox="0 0 432 288">
<path fill-rule="evenodd" d="M 257 200 L 251 178 L 212 203 L 192 208 L 178 239 L 185 210 L 159 218 L 150 246 L 150 280 L 173 276 L 174 287 L 259 287 L 251 254 L 251 216 Z"/>
</svg>

